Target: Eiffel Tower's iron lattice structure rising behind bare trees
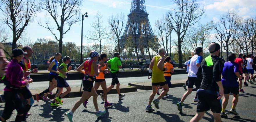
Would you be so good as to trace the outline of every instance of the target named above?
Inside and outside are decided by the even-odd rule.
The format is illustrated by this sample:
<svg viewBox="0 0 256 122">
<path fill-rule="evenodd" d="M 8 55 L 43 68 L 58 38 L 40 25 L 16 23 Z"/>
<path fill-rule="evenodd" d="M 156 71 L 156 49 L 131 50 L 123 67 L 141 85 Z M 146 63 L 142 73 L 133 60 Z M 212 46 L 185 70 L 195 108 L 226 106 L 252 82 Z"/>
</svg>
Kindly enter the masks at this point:
<svg viewBox="0 0 256 122">
<path fill-rule="evenodd" d="M 136 38 L 140 38 L 141 40 L 144 40 L 139 43 L 139 41 L 134 40 L 133 42 L 137 42 L 140 47 L 138 49 L 141 51 L 141 55 L 144 56 L 144 50 L 141 45 L 146 45 L 147 42 L 145 40 L 156 40 L 156 36 L 154 36 L 154 33 L 152 31 L 152 28 L 150 26 L 150 22 L 148 20 L 148 13 L 145 6 L 145 0 L 132 0 L 131 2 L 131 10 L 130 14 L 128 15 L 128 21 L 124 30 L 123 35 L 120 37 L 120 47 L 122 49 L 125 48 L 125 42 L 127 40 L 127 37 L 130 35 L 136 36 Z M 135 30 L 133 29 L 135 28 Z M 143 32 L 144 28 L 144 32 Z M 145 28 L 147 29 L 145 35 Z M 143 34 L 144 33 L 144 34 Z M 135 43 L 134 43 L 135 44 Z"/>
</svg>

